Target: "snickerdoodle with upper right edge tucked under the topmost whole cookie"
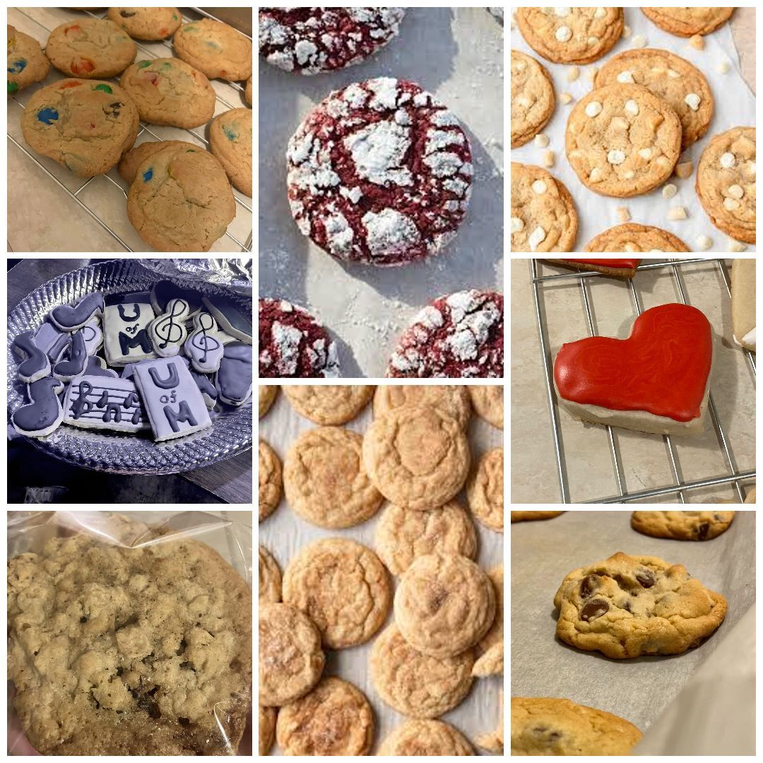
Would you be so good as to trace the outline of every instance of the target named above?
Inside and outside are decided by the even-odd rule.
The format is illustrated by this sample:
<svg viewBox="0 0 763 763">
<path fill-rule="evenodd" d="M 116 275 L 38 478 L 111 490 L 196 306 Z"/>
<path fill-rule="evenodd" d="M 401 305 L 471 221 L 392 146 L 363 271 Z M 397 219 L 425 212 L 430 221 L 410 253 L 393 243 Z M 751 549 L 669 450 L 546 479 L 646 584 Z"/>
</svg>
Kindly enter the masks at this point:
<svg viewBox="0 0 763 763">
<path fill-rule="evenodd" d="M 378 511 L 383 497 L 363 466 L 362 442 L 342 427 L 317 427 L 298 436 L 286 454 L 284 491 L 300 517 L 336 529 L 365 522 Z"/>
</svg>

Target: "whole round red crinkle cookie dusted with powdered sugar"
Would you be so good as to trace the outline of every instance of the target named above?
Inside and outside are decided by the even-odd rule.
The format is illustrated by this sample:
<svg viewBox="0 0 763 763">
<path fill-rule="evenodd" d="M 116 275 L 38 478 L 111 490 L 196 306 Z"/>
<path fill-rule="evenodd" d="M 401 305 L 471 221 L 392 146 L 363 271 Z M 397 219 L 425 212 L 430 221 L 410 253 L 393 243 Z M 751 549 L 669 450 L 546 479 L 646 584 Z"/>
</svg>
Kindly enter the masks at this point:
<svg viewBox="0 0 763 763">
<path fill-rule="evenodd" d="M 299 229 L 351 262 L 405 265 L 439 253 L 461 223 L 472 152 L 456 116 L 414 82 L 336 90 L 288 144 Z"/>
</svg>

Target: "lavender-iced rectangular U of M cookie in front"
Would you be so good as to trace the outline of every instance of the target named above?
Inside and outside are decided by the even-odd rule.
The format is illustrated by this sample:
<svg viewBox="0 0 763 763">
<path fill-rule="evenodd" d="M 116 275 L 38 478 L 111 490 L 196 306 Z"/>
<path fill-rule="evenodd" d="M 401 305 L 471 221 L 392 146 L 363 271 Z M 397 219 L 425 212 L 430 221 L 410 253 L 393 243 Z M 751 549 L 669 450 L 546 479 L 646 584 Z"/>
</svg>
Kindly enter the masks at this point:
<svg viewBox="0 0 763 763">
<path fill-rule="evenodd" d="M 211 427 L 207 405 L 182 358 L 137 363 L 133 378 L 156 442 Z"/>
</svg>

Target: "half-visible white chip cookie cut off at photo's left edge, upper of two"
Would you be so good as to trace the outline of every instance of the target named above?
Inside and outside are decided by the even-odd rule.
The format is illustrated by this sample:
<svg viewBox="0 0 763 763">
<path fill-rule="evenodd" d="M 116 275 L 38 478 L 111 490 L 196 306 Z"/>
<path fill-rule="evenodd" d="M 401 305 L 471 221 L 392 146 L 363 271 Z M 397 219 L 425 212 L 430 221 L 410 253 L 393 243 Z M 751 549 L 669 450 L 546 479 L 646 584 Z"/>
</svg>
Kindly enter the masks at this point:
<svg viewBox="0 0 763 763">
<path fill-rule="evenodd" d="M 546 67 L 520 50 L 511 51 L 511 147 L 528 143 L 554 113 L 554 85 Z"/>
</svg>

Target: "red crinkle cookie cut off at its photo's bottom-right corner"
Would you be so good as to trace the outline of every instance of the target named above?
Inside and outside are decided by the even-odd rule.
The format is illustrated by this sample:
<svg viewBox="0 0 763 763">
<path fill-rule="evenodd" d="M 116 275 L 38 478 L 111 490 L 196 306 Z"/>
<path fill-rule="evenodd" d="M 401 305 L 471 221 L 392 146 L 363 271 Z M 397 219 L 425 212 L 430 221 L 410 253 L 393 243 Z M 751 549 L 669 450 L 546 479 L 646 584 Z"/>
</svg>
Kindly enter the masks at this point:
<svg viewBox="0 0 763 763">
<path fill-rule="evenodd" d="M 387 375 L 502 377 L 503 295 L 468 289 L 438 297 L 402 333 Z"/>
</svg>

